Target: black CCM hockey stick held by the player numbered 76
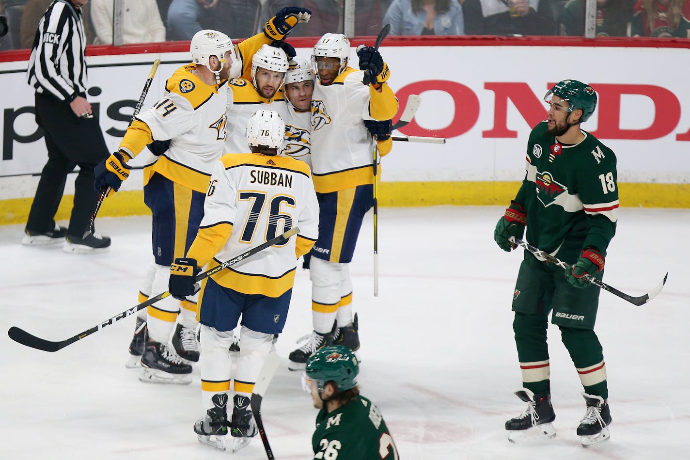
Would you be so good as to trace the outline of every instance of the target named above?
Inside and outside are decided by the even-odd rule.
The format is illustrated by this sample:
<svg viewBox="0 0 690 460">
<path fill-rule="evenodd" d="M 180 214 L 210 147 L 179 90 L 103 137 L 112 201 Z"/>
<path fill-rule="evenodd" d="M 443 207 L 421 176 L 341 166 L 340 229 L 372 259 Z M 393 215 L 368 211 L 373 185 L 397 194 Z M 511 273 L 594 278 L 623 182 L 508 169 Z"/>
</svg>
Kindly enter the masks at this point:
<svg viewBox="0 0 690 460">
<path fill-rule="evenodd" d="M 236 256 L 235 258 L 232 258 L 226 262 L 223 262 L 221 265 L 218 265 L 217 267 L 213 267 L 210 270 L 206 270 L 200 274 L 197 275 L 196 278 L 194 278 L 195 282 L 199 282 L 203 280 L 204 278 L 208 278 L 211 275 L 217 274 L 219 271 L 222 269 L 225 269 L 227 267 L 230 267 L 230 265 L 235 265 L 237 262 L 240 262 L 250 256 L 253 256 L 255 253 L 259 251 L 263 251 L 264 249 L 271 247 L 273 245 L 280 245 L 286 240 L 289 240 L 291 236 L 296 235 L 299 233 L 299 228 L 298 227 L 293 227 L 286 231 L 285 233 L 282 233 L 282 235 L 279 235 L 272 240 L 268 240 L 261 245 L 258 245 L 257 247 L 253 247 L 252 249 L 248 249 L 248 251 L 245 251 L 242 254 L 239 254 L 239 256 Z M 75 343 L 76 341 L 81 340 L 82 338 L 86 336 L 90 336 L 94 332 L 98 332 L 100 329 L 103 329 L 103 327 L 109 326 L 112 323 L 115 323 L 116 321 L 121 320 L 122 318 L 126 318 L 127 316 L 130 316 L 131 314 L 134 314 L 136 312 L 139 312 L 139 310 L 144 309 L 148 307 L 149 305 L 152 305 L 162 298 L 166 298 L 170 296 L 169 291 L 165 291 L 161 294 L 158 294 L 157 296 L 151 297 L 146 302 L 142 302 L 139 305 L 135 305 L 134 307 L 130 309 L 126 309 L 124 312 L 121 312 L 120 314 L 117 314 L 113 316 L 110 319 L 107 319 L 105 321 L 102 321 L 101 323 L 98 323 L 94 327 L 90 329 L 86 329 L 86 331 L 79 332 L 76 336 L 70 337 L 66 340 L 63 341 L 57 341 L 57 342 L 52 342 L 52 341 L 47 341 L 45 338 L 40 338 L 37 336 L 34 336 L 33 334 L 29 334 L 26 332 L 24 329 L 21 329 L 16 326 L 10 327 L 8 330 L 7 334 L 10 336 L 10 338 L 15 341 L 21 343 L 21 345 L 26 345 L 27 347 L 32 347 L 35 349 L 41 349 L 44 352 L 57 352 L 59 349 L 63 349 L 67 345 L 72 345 L 72 343 Z"/>
</svg>

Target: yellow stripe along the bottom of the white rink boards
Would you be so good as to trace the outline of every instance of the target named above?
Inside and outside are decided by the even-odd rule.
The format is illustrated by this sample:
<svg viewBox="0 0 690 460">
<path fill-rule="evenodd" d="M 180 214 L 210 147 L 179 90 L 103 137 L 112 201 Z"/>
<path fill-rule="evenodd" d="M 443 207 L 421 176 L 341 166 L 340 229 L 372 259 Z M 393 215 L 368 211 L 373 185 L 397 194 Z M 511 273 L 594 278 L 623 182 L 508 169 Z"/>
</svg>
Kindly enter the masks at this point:
<svg viewBox="0 0 690 460">
<path fill-rule="evenodd" d="M 381 207 L 444 204 L 506 207 L 515 198 L 517 189 L 520 189 L 520 182 L 381 182 L 377 193 Z M 690 184 L 619 182 L 618 189 L 621 207 L 690 208 Z M 75 195 L 63 195 L 55 220 L 70 219 L 74 199 Z M 32 197 L 0 200 L 0 224 L 26 224 L 32 201 Z M 120 191 L 110 195 L 98 211 L 99 217 L 125 215 L 151 215 L 144 204 L 143 191 Z"/>
</svg>

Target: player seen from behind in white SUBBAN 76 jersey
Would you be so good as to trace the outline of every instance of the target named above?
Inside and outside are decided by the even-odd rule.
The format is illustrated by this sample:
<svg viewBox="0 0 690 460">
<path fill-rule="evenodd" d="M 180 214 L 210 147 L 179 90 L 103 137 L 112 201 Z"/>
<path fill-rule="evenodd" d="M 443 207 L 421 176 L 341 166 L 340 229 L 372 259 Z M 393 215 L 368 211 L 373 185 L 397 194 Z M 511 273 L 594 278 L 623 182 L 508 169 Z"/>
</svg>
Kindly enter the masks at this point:
<svg viewBox="0 0 690 460">
<path fill-rule="evenodd" d="M 230 434 L 233 450 L 257 433 L 249 399 L 274 336 L 283 330 L 295 282 L 297 258 L 318 236 L 318 204 L 308 166 L 279 155 L 285 124 L 275 111 L 259 110 L 248 122 L 252 153 L 229 153 L 211 175 L 204 219 L 186 258 L 170 268 L 169 291 L 184 298 L 195 291 L 201 267 L 217 267 L 238 253 L 290 229 L 299 234 L 206 278 L 199 292 L 201 393 L 206 416 L 194 430 L 199 441 L 225 450 L 226 404 L 234 379 Z M 241 319 L 240 319 L 241 318 Z M 242 325 L 239 361 L 231 375 L 228 347 Z"/>
</svg>

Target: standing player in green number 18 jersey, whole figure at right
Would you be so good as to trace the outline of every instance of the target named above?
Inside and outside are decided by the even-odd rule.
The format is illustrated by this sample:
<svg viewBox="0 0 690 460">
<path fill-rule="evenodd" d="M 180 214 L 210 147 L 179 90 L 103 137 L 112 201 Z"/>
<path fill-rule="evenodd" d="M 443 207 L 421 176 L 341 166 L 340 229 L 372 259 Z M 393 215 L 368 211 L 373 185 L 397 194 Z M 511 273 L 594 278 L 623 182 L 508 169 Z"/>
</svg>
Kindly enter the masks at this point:
<svg viewBox="0 0 690 460">
<path fill-rule="evenodd" d="M 602 278 L 607 247 L 618 220 L 615 155 L 580 124 L 592 115 L 597 96 L 576 80 L 564 80 L 544 97 L 548 117 L 529 135 L 526 175 L 494 239 L 504 251 L 515 249 L 511 236 L 572 264 L 564 271 L 524 251 L 513 292 L 513 330 L 522 372 L 515 394 L 527 408 L 506 422 L 512 442 L 555 437 L 551 422 L 549 349 L 546 329 L 558 326 L 573 360 L 586 401 L 577 434 L 585 447 L 609 439 L 611 412 L 606 365 L 594 332 L 600 289 L 583 280 Z"/>
</svg>

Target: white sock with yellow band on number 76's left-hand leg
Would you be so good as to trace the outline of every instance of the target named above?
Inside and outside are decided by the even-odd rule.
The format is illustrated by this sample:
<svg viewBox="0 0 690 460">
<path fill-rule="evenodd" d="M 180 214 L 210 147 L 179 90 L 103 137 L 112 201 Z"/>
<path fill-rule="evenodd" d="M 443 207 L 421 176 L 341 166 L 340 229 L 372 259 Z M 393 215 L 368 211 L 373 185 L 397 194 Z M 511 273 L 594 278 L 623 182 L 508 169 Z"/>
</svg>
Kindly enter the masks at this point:
<svg viewBox="0 0 690 460">
<path fill-rule="evenodd" d="M 201 404 L 204 409 L 213 408 L 211 398 L 217 393 L 230 391 L 232 358 L 228 353 L 233 343 L 232 331 L 219 332 L 212 327 L 201 326 L 201 347 L 204 353 L 199 357 L 201 365 Z"/>
</svg>

